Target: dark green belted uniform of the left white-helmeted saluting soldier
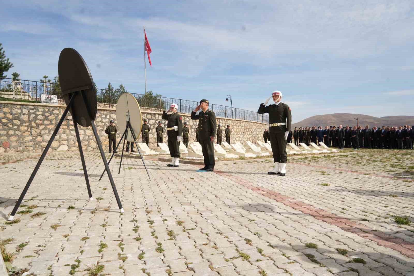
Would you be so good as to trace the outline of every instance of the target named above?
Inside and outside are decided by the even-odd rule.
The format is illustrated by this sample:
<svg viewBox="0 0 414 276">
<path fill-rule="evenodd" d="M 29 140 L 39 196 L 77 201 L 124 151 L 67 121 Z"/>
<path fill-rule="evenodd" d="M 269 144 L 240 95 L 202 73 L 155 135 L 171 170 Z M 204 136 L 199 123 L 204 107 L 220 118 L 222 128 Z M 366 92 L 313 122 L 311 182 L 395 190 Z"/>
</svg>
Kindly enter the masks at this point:
<svg viewBox="0 0 414 276">
<path fill-rule="evenodd" d="M 171 157 L 180 157 L 180 142 L 177 141 L 177 136 L 183 133 L 183 117 L 178 112 L 173 114 L 167 114 L 165 111 L 162 113 L 162 119 L 168 120 L 167 122 L 167 142 L 168 149 L 170 150 Z M 174 129 L 177 128 L 177 130 Z"/>
</svg>

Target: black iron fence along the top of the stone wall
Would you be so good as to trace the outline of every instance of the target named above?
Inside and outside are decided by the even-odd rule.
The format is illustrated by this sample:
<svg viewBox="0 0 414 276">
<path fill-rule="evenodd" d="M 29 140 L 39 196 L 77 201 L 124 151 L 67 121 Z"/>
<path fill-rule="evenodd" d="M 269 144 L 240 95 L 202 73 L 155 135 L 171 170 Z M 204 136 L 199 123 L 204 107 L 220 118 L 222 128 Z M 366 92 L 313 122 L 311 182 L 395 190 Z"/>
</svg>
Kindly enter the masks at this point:
<svg viewBox="0 0 414 276">
<path fill-rule="evenodd" d="M 170 104 L 178 104 L 178 111 L 183 113 L 191 113 L 199 104 L 196 101 L 185 99 L 168 98 L 156 96 L 152 94 L 137 94 L 131 93 L 140 104 L 141 107 L 166 110 Z M 41 82 L 31 80 L 13 80 L 4 78 L 0 80 L 0 98 L 7 99 L 24 99 L 28 101 L 40 101 L 41 94 L 58 95 L 60 99 L 60 87 L 53 82 Z M 122 92 L 118 90 L 97 89 L 96 97 L 100 105 L 107 105 L 113 107 Z M 258 121 L 268 123 L 269 117 L 267 115 L 258 114 L 257 112 L 231 108 L 221 104 L 209 104 L 209 109 L 214 111 L 217 117 L 241 119 L 246 121 Z"/>
</svg>

